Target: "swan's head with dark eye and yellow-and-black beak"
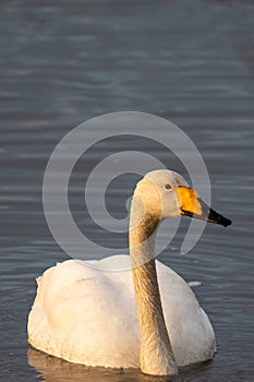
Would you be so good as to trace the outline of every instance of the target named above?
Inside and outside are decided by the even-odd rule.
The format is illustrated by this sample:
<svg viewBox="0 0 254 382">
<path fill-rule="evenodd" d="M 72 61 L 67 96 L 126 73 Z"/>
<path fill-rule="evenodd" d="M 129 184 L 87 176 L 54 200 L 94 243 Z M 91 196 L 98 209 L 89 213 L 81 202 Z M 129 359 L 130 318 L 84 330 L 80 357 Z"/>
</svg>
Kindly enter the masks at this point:
<svg viewBox="0 0 254 382">
<path fill-rule="evenodd" d="M 137 183 L 134 198 L 142 202 L 143 213 L 161 220 L 170 216 L 190 216 L 225 227 L 231 220 L 208 207 L 184 178 L 171 170 L 155 170 Z"/>
</svg>

